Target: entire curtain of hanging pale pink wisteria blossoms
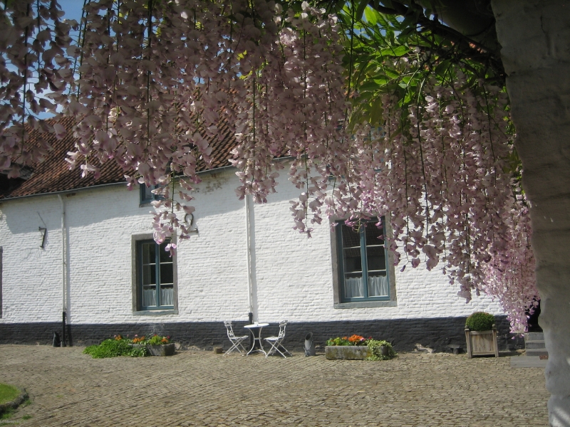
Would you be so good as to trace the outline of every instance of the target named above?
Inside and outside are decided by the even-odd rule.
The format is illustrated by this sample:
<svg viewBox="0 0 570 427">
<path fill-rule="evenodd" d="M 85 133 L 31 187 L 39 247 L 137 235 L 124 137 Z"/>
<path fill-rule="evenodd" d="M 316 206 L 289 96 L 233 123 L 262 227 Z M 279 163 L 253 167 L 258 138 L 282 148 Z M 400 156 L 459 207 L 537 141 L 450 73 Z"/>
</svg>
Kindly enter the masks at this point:
<svg viewBox="0 0 570 427">
<path fill-rule="evenodd" d="M 0 10 L 0 169 L 9 176 L 50 148 L 29 144 L 31 129 L 63 137 L 61 125 L 38 119 L 60 108 L 76 122 L 70 167 L 98 176 L 100 164 L 118 162 L 130 187 L 157 186 L 155 241 L 184 239 L 179 214 L 194 211 L 197 167 L 227 125 L 239 198 L 266 201 L 284 168 L 276 159 L 291 157 L 296 230 L 385 215 L 402 268 L 439 266 L 461 296 L 499 297 L 512 329 L 526 325 L 537 295 L 529 214 L 507 167 L 499 88 L 481 97 L 458 73 L 447 85 L 427 81 L 405 111 L 387 93 L 378 122 L 354 122 L 346 34 L 307 2 L 293 11 L 266 0 L 97 0 L 80 23 L 62 19 L 51 0 Z"/>
</svg>

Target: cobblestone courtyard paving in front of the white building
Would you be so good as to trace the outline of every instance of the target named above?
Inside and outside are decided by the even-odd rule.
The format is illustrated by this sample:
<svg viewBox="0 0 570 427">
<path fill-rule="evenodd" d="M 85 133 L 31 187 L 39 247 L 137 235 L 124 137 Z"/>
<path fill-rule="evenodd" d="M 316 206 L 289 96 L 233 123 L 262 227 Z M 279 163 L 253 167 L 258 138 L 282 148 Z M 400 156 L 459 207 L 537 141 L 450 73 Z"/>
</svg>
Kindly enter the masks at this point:
<svg viewBox="0 0 570 427">
<path fill-rule="evenodd" d="M 0 426 L 548 426 L 543 369 L 512 369 L 509 357 L 91 359 L 82 350 L 1 345 L 0 382 L 24 386 L 32 403 Z"/>
</svg>

